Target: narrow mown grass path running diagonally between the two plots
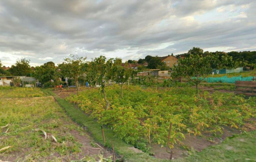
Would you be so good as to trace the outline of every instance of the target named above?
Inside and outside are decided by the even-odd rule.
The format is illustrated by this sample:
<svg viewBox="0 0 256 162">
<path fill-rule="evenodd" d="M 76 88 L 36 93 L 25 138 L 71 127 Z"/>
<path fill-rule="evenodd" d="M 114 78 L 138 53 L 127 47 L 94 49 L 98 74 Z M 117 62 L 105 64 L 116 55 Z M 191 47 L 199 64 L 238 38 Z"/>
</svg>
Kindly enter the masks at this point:
<svg viewBox="0 0 256 162">
<path fill-rule="evenodd" d="M 101 132 L 101 125 L 99 123 L 95 122 L 92 118 L 87 117 L 83 111 L 76 109 L 71 103 L 65 101 L 64 99 L 61 99 L 59 96 L 57 96 L 55 93 L 51 92 L 50 90 L 42 89 L 42 91 L 46 94 L 50 94 L 55 97 L 56 101 L 59 103 L 59 105 L 65 109 L 66 113 L 78 124 L 87 127 L 88 131 L 91 133 L 93 138 L 103 144 L 102 139 L 102 132 Z M 146 153 L 135 153 L 133 150 L 130 149 L 130 147 L 133 147 L 132 145 L 129 145 L 123 140 L 114 137 L 114 133 L 112 130 L 104 128 L 104 134 L 106 139 L 106 147 L 111 148 L 111 144 L 114 145 L 115 152 L 122 156 L 123 161 L 129 161 L 129 162 L 156 162 L 160 161 L 158 159 L 153 158 L 150 155 L 147 155 Z"/>
</svg>

